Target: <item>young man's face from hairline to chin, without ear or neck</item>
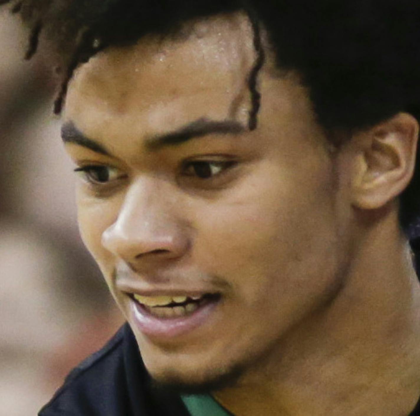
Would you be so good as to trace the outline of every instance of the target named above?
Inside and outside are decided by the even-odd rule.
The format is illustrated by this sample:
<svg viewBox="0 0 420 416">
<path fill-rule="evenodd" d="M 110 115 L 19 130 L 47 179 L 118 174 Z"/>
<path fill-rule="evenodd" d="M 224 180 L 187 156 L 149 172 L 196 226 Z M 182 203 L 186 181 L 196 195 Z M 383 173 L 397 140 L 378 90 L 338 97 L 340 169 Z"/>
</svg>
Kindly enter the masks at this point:
<svg viewBox="0 0 420 416">
<path fill-rule="evenodd" d="M 187 39 L 106 49 L 69 86 L 66 150 L 90 169 L 81 234 L 160 382 L 205 386 L 276 362 L 340 283 L 328 145 L 305 89 L 270 63 L 249 131 L 254 63 L 247 20 L 218 18 Z"/>
</svg>

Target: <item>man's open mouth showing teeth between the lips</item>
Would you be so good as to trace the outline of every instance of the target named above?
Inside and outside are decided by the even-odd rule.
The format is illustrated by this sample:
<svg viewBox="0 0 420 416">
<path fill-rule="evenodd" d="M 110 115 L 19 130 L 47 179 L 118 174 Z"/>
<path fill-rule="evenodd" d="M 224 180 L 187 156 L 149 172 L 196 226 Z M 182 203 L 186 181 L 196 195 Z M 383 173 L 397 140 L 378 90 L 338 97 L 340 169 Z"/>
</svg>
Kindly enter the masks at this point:
<svg viewBox="0 0 420 416">
<path fill-rule="evenodd" d="M 220 294 L 203 294 L 201 296 L 141 296 L 131 294 L 134 300 L 148 314 L 157 318 L 188 317 L 207 304 L 220 300 Z"/>
</svg>

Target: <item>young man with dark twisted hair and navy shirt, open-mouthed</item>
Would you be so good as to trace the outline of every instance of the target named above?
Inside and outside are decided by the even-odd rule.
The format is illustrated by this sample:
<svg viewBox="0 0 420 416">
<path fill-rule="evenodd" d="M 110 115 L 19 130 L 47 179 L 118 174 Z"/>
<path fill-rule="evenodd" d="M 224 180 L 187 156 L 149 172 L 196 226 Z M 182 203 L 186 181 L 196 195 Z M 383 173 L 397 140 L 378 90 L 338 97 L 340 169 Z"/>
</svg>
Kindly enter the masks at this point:
<svg viewBox="0 0 420 416">
<path fill-rule="evenodd" d="M 420 414 L 420 4 L 8 1 L 128 321 L 40 412 Z"/>
</svg>

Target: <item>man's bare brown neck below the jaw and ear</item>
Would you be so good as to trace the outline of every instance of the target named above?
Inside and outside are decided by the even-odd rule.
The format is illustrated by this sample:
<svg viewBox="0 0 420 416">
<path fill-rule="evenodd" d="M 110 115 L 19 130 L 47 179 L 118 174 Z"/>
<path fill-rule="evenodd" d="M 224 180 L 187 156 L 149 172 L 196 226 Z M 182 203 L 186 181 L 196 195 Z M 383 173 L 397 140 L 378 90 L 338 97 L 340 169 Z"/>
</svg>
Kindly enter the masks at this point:
<svg viewBox="0 0 420 416">
<path fill-rule="evenodd" d="M 237 416 L 408 415 L 420 395 L 420 286 L 396 215 L 357 242 L 342 281 L 220 403 Z"/>
</svg>

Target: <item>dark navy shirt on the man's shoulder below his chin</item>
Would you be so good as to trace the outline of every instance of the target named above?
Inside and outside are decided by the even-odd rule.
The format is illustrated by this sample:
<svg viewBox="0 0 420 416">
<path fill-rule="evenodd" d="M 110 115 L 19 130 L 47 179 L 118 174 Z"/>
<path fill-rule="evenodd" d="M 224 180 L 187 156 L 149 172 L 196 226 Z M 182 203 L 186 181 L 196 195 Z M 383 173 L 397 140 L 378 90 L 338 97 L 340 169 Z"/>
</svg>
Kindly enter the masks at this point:
<svg viewBox="0 0 420 416">
<path fill-rule="evenodd" d="M 189 416 L 178 395 L 151 387 L 128 324 L 77 366 L 39 416 Z M 420 402 L 409 416 L 420 416 Z"/>
</svg>

